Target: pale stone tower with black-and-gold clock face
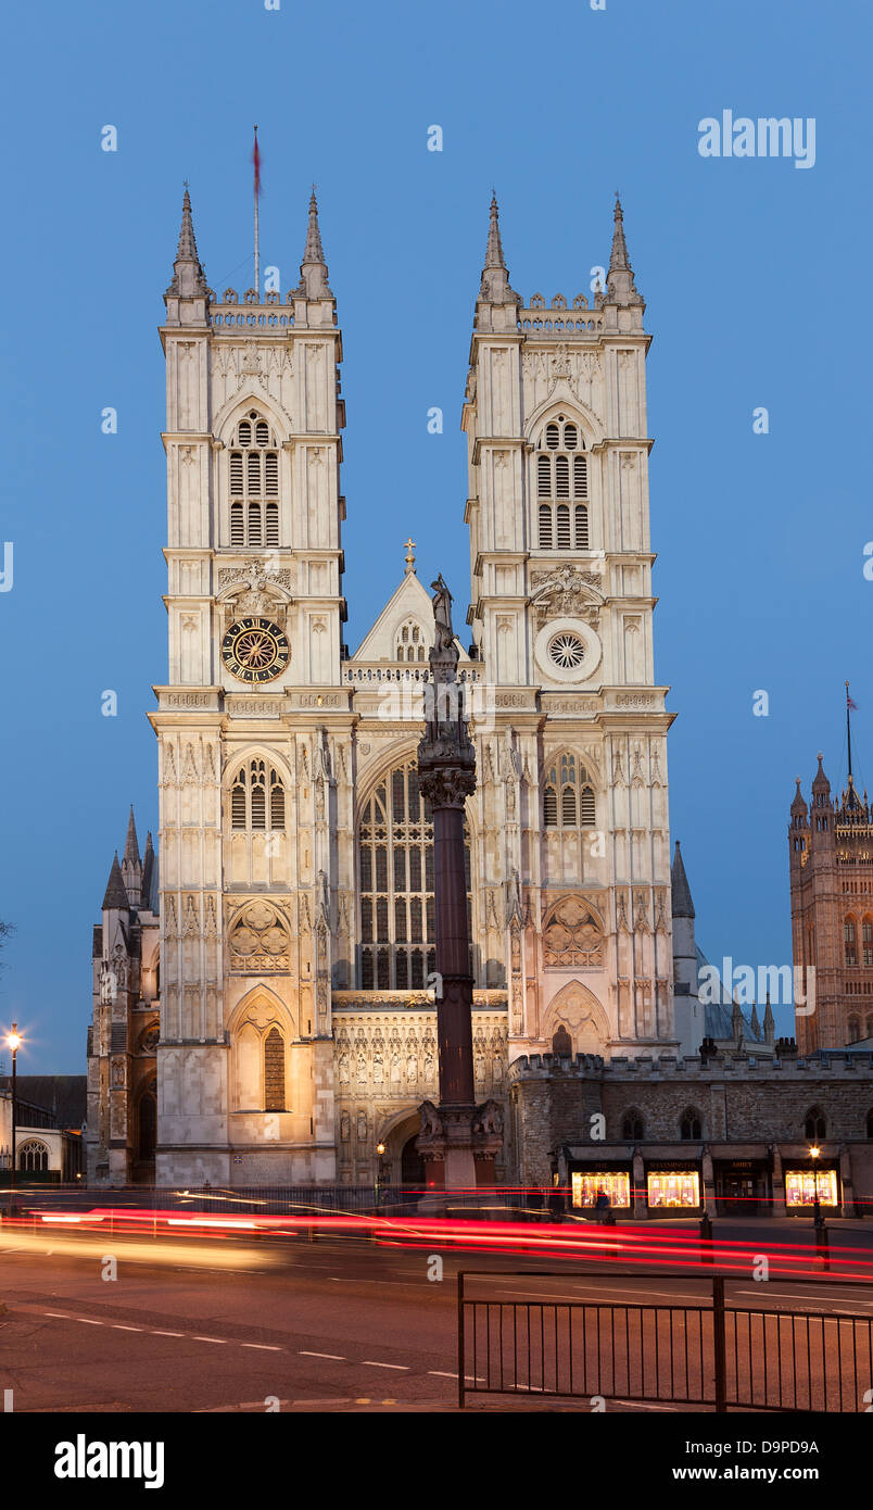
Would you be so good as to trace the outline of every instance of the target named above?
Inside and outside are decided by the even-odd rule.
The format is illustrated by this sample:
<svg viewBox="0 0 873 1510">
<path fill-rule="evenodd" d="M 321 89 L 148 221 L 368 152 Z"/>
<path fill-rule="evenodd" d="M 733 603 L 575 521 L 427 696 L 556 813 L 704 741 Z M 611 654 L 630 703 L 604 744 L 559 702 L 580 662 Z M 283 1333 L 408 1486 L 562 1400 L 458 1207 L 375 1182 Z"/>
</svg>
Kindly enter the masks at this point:
<svg viewBox="0 0 873 1510">
<path fill-rule="evenodd" d="M 216 297 L 186 189 L 166 355 L 157 1179 L 334 1175 L 341 335 L 316 196 L 301 281 Z M 340 877 L 350 886 L 350 876 Z"/>
</svg>

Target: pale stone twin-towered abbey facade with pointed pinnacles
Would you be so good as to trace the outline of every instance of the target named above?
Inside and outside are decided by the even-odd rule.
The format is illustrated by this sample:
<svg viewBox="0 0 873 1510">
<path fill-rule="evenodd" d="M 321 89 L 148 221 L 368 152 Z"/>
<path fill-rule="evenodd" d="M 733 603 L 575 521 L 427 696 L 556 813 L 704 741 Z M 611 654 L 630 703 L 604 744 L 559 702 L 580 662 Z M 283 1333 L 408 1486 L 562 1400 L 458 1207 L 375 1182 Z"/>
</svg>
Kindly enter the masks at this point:
<svg viewBox="0 0 873 1510">
<path fill-rule="evenodd" d="M 207 285 L 186 190 L 165 302 L 160 829 L 140 855 L 131 820 L 94 933 L 89 1178 L 415 1181 L 418 1107 L 436 1098 L 415 767 L 433 616 L 409 541 L 379 619 L 346 645 L 343 344 L 314 196 L 281 299 Z M 459 645 L 482 1101 L 553 1043 L 609 1062 L 675 1052 L 687 1030 L 643 308 L 618 201 L 604 287 L 527 302 L 492 202 L 462 406 Z M 498 1173 L 517 1169 L 507 1120 Z"/>
</svg>

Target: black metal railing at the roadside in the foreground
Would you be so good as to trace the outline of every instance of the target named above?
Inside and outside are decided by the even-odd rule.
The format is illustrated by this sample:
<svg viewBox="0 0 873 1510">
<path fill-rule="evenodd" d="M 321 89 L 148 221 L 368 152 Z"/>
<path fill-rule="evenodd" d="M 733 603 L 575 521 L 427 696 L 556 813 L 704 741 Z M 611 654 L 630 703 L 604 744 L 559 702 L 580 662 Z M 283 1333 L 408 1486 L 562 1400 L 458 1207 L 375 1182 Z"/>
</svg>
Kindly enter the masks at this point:
<svg viewBox="0 0 873 1510">
<path fill-rule="evenodd" d="M 548 1299 L 514 1294 L 532 1280 L 581 1276 L 542 1271 L 458 1276 L 459 1404 L 474 1395 L 663 1401 L 725 1410 L 864 1412 L 873 1403 L 873 1317 L 853 1314 L 826 1280 L 779 1280 L 794 1305 L 737 1303 L 749 1280 L 633 1273 L 585 1284 L 637 1288 L 639 1299 Z M 509 1293 L 494 1294 L 495 1282 Z M 699 1296 L 656 1303 L 645 1290 L 692 1284 Z M 491 1290 L 474 1294 L 471 1290 Z M 843 1285 L 840 1287 L 843 1290 Z M 871 1296 L 873 1287 L 853 1285 Z M 822 1309 L 822 1308 L 834 1309 Z M 814 1309 L 817 1308 L 817 1309 Z"/>
</svg>

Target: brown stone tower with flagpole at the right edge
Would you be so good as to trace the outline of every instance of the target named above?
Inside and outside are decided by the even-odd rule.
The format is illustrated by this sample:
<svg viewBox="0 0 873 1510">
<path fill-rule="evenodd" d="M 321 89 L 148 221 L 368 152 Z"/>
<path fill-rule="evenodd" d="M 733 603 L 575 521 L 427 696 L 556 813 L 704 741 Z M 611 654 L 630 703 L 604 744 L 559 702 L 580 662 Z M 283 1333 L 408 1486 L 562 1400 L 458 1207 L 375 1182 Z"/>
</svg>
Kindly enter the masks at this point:
<svg viewBox="0 0 873 1510">
<path fill-rule="evenodd" d="M 873 814 L 849 772 L 831 799 L 822 755 L 811 803 L 796 779 L 788 824 L 797 1046 L 873 1039 Z"/>
</svg>

